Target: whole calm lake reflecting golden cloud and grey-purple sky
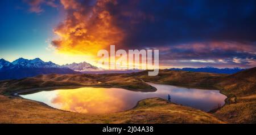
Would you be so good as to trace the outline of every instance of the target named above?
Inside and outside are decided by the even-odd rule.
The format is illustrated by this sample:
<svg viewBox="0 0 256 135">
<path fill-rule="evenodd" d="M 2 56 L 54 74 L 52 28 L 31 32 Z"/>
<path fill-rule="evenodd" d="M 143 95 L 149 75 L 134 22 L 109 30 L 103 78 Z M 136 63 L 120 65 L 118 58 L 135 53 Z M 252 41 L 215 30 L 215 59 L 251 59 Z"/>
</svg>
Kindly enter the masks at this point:
<svg viewBox="0 0 256 135">
<path fill-rule="evenodd" d="M 171 102 L 183 104 L 203 111 L 223 105 L 225 95 L 218 90 L 179 88 L 171 85 L 152 84 L 156 92 L 142 93 L 118 88 L 79 88 L 38 92 L 20 95 L 23 98 L 44 102 L 61 110 L 85 114 L 106 114 L 133 108 L 142 99 L 160 97 Z"/>
</svg>

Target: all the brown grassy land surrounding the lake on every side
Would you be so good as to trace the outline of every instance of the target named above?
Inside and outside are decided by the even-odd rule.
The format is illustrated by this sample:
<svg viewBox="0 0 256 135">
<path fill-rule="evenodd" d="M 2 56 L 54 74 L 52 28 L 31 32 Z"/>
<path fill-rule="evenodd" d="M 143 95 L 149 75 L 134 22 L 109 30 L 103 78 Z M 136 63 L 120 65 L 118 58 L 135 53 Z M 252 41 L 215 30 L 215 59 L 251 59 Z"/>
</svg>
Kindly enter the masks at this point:
<svg viewBox="0 0 256 135">
<path fill-rule="evenodd" d="M 158 76 L 147 76 L 147 71 L 143 71 L 138 73 L 104 75 L 51 74 L 20 80 L 6 80 L 0 82 L 0 93 L 2 94 L 1 115 L 13 117 L 11 120 L 13 123 L 20 123 L 22 121 L 23 123 L 56 123 L 57 121 L 59 121 L 57 123 L 255 123 L 255 76 L 256 68 L 251 68 L 232 75 L 160 70 Z M 36 90 L 36 92 L 40 92 L 40 90 L 44 90 L 45 88 L 50 90 L 52 87 L 55 87 L 56 89 L 58 87 L 65 88 L 67 86 L 76 88 L 85 86 L 123 88 L 135 92 L 155 92 L 156 88 L 148 85 L 145 81 L 154 82 L 155 84 L 183 86 L 186 88 L 217 89 L 228 98 L 225 100 L 226 103 L 223 107 L 218 108 L 217 110 L 212 110 L 210 113 L 180 106 L 179 104 L 168 103 L 163 99 L 150 98 L 138 102 L 138 104 L 141 104 L 139 107 L 137 104 L 137 107 L 131 110 L 112 113 L 111 116 L 106 116 L 104 114 L 88 115 L 56 110 L 45 106 L 42 103 L 13 97 L 12 95 L 13 93 L 20 92 L 20 90 L 32 89 Z M 35 106 L 27 106 L 27 104 L 35 104 Z M 8 106 L 10 106 L 9 109 L 7 109 Z M 22 109 L 19 109 L 19 106 Z M 10 112 L 9 114 L 5 111 L 6 109 L 14 111 L 15 113 Z M 31 109 L 34 111 L 31 111 Z M 42 110 L 52 111 L 55 115 L 48 112 L 47 114 L 51 115 L 43 115 L 44 111 Z M 27 114 L 27 111 L 30 111 L 32 113 L 30 115 L 33 117 L 30 117 L 30 115 Z M 179 113 L 177 114 L 177 112 Z M 76 117 L 75 120 L 77 121 L 68 119 L 68 117 L 71 116 L 63 116 L 64 114 L 72 113 L 76 114 L 74 117 Z M 191 113 L 196 115 L 190 115 Z M 63 116 L 63 118 L 59 119 L 58 117 L 60 116 L 56 116 L 57 114 Z M 30 117 L 30 119 L 18 121 L 17 119 L 14 119 L 15 117 L 18 117 L 18 115 L 28 118 Z M 34 116 L 37 116 L 38 119 Z M 54 121 L 51 121 L 48 118 L 46 119 L 46 117 L 54 117 Z M 97 117 L 97 120 L 94 119 L 95 117 Z M 126 117 L 126 119 L 124 117 Z M 141 117 L 141 119 L 131 120 L 131 117 Z M 204 117 L 210 118 L 206 120 Z M 44 119 L 44 121 L 40 119 Z M 3 120 L 2 118 L 0 121 L 5 121 L 6 123 L 11 122 Z"/>
</svg>

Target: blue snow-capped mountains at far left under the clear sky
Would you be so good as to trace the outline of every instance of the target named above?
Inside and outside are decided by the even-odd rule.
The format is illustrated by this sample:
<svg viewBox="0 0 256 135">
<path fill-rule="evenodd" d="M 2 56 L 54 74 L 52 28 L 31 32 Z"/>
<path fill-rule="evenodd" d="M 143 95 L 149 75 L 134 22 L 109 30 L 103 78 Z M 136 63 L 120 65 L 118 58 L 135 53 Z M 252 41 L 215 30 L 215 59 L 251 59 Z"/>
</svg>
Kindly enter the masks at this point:
<svg viewBox="0 0 256 135">
<path fill-rule="evenodd" d="M 14 60 L 14 62 L 0 59 L 0 80 L 22 79 L 49 73 L 73 74 L 80 72 L 73 71 L 67 67 L 61 67 L 52 62 L 44 62 L 39 58 L 32 60 L 19 58 Z"/>
</svg>

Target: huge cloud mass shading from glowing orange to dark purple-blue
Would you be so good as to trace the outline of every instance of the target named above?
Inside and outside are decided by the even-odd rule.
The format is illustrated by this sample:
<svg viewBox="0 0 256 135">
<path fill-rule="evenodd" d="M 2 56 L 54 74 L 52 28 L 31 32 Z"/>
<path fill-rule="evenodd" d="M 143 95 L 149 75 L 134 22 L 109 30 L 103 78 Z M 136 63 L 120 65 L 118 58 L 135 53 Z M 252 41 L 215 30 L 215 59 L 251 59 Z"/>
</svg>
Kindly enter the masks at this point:
<svg viewBox="0 0 256 135">
<path fill-rule="evenodd" d="M 31 10 L 42 10 L 40 3 L 47 3 L 42 1 L 30 2 Z M 52 44 L 63 53 L 96 55 L 114 44 L 159 49 L 167 67 L 256 66 L 253 0 L 55 2 L 66 16 L 54 29 L 59 38 Z"/>
</svg>

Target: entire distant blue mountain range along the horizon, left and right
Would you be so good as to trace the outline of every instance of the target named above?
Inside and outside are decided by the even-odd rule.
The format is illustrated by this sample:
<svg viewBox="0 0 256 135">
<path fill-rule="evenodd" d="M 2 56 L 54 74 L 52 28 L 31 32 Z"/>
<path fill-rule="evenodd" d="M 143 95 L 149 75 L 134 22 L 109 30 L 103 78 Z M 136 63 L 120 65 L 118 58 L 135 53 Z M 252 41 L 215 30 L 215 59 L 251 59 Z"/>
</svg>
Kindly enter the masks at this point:
<svg viewBox="0 0 256 135">
<path fill-rule="evenodd" d="M 208 72 L 208 73 L 225 73 L 232 74 L 245 70 L 244 68 L 214 68 L 214 67 L 204 67 L 204 68 L 170 68 L 174 71 L 190 71 L 190 72 Z M 8 62 L 5 59 L 0 59 L 0 80 L 7 79 L 22 79 L 26 77 L 33 77 L 37 75 L 46 75 L 50 73 L 56 74 L 77 74 L 77 73 L 130 73 L 139 72 L 141 70 L 131 70 L 131 71 L 109 71 L 101 70 L 96 66 L 92 66 L 89 63 L 72 63 L 60 66 L 53 62 L 44 62 L 39 58 L 32 60 L 19 58 L 13 62 Z"/>
</svg>

